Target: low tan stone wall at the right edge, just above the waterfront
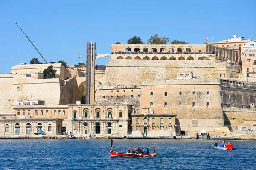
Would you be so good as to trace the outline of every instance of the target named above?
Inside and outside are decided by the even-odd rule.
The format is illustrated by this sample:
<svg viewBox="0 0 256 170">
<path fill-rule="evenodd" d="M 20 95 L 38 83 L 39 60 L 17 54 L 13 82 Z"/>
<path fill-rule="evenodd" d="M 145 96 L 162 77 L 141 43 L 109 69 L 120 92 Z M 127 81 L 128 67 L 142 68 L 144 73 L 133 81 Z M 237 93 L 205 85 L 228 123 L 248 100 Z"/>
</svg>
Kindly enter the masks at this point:
<svg viewBox="0 0 256 170">
<path fill-rule="evenodd" d="M 256 130 L 256 108 L 223 108 L 224 124 L 233 132 Z"/>
</svg>

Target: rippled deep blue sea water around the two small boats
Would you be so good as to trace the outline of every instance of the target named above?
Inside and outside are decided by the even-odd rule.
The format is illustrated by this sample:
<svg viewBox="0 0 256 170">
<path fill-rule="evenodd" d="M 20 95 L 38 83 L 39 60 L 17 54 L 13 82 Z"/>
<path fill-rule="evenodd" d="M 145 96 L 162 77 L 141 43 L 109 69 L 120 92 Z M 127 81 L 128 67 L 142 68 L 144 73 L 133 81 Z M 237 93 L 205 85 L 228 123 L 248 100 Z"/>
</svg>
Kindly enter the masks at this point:
<svg viewBox="0 0 256 170">
<path fill-rule="evenodd" d="M 0 139 L 0 169 L 256 170 L 256 141 L 230 141 L 236 150 L 213 150 L 214 140 L 113 139 L 113 149 L 148 147 L 157 157 L 110 158 L 110 139 Z M 226 141 L 228 142 L 228 141 Z"/>
</svg>

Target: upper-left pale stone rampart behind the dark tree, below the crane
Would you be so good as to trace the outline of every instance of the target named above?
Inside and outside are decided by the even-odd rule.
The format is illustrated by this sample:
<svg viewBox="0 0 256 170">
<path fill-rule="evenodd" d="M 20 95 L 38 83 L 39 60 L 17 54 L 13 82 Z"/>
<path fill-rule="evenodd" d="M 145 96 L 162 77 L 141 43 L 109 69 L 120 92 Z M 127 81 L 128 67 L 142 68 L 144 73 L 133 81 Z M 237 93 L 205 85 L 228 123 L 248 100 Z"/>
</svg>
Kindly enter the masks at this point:
<svg viewBox="0 0 256 170">
<path fill-rule="evenodd" d="M 53 66 L 53 69 L 57 70 L 55 74 L 58 74 L 61 80 L 67 79 L 69 77 L 69 72 L 61 63 L 15 65 L 15 66 L 12 66 L 11 73 L 12 74 L 26 74 L 26 73 L 38 74 L 38 73 L 43 73 L 44 69 L 47 69 L 51 65 Z M 36 78 L 36 77 L 33 77 L 33 78 Z"/>
</svg>

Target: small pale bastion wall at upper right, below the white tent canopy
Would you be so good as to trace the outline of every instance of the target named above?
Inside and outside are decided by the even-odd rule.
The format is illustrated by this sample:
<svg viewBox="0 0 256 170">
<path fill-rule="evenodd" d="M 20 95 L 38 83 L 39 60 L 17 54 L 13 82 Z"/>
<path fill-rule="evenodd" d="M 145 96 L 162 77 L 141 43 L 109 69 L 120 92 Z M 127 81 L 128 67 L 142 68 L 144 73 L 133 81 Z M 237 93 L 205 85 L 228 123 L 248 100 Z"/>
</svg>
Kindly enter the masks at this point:
<svg viewBox="0 0 256 170">
<path fill-rule="evenodd" d="M 215 73 L 220 78 L 233 78 L 240 73 L 238 65 L 230 65 L 225 63 L 216 63 L 215 64 Z"/>
</svg>

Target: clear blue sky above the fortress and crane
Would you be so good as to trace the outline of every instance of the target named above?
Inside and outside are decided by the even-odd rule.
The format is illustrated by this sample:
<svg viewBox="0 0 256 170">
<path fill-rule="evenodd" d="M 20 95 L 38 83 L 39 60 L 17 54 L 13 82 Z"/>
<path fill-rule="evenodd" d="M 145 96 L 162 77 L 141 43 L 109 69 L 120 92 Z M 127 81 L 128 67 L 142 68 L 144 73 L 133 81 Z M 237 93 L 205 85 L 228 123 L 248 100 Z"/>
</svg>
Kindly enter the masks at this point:
<svg viewBox="0 0 256 170">
<path fill-rule="evenodd" d="M 96 53 L 110 53 L 111 44 L 133 36 L 143 42 L 158 34 L 190 44 L 218 42 L 233 35 L 256 39 L 255 0 L 0 0 L 0 73 L 13 65 L 43 62 L 17 22 L 49 63 L 68 65 L 81 56 L 85 44 L 97 43 Z M 109 57 L 97 59 L 106 65 Z"/>
</svg>

